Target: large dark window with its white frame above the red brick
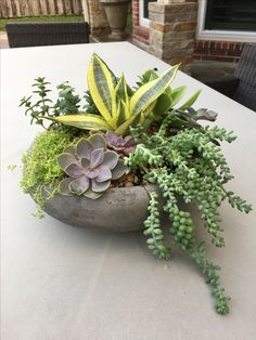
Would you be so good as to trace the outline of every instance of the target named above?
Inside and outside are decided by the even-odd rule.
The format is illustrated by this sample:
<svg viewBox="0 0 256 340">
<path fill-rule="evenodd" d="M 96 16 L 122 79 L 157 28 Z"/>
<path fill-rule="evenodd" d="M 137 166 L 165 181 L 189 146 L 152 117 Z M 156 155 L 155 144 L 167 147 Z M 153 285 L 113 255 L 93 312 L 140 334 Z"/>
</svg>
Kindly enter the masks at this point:
<svg viewBox="0 0 256 340">
<path fill-rule="evenodd" d="M 197 39 L 256 41 L 256 0 L 199 0 Z"/>
</svg>

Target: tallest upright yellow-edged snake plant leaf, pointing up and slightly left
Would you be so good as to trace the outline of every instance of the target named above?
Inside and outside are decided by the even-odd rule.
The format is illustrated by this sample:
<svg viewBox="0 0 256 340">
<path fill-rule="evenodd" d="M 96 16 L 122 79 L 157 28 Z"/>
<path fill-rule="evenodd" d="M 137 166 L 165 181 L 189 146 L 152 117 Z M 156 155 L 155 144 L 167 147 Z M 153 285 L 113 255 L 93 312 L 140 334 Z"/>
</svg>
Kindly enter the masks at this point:
<svg viewBox="0 0 256 340">
<path fill-rule="evenodd" d="M 113 77 L 106 64 L 93 53 L 88 68 L 88 87 L 97 108 L 106 121 L 112 119 Z"/>
</svg>

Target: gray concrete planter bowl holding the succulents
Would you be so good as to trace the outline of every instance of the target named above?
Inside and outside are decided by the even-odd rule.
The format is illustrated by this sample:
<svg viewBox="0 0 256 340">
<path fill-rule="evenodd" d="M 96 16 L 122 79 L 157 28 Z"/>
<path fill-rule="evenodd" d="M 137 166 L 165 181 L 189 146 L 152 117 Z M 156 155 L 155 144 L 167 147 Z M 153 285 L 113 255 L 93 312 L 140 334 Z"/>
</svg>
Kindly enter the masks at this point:
<svg viewBox="0 0 256 340">
<path fill-rule="evenodd" d="M 150 186 L 156 189 L 155 186 Z M 33 196 L 33 195 L 31 195 Z M 43 210 L 54 219 L 74 226 L 117 233 L 143 228 L 149 194 L 143 186 L 110 188 L 102 197 L 55 195 Z"/>
</svg>

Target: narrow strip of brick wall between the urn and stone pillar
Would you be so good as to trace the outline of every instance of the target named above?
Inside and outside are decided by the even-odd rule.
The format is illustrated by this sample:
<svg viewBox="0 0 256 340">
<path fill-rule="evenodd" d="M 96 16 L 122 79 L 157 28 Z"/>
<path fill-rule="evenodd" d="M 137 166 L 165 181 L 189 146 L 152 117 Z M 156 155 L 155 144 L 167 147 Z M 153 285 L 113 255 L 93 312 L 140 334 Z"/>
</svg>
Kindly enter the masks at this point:
<svg viewBox="0 0 256 340">
<path fill-rule="evenodd" d="M 146 48 L 146 45 L 149 45 L 150 29 L 140 26 L 139 1 L 140 0 L 132 0 L 132 23 L 133 23 L 132 39 L 138 44 Z"/>
</svg>

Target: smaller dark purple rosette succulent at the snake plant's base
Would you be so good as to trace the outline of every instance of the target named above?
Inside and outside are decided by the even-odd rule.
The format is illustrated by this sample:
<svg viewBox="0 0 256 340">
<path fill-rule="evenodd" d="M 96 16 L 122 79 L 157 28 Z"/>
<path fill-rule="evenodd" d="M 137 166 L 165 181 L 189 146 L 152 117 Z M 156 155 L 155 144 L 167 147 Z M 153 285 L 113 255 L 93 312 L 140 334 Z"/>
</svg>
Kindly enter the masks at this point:
<svg viewBox="0 0 256 340">
<path fill-rule="evenodd" d="M 105 136 L 107 146 L 118 154 L 128 156 L 136 149 L 136 142 L 131 135 L 123 138 L 113 131 L 107 131 Z"/>
</svg>

